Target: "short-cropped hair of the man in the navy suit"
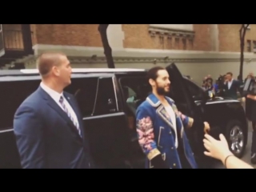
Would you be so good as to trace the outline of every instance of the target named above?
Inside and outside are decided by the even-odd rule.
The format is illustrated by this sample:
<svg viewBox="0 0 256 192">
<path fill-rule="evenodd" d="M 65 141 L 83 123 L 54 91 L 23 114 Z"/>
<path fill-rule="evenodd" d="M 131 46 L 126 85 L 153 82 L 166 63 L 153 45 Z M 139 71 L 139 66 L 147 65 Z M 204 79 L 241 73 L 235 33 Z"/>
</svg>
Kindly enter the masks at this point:
<svg viewBox="0 0 256 192">
<path fill-rule="evenodd" d="M 40 54 L 37 58 L 37 67 L 39 74 L 43 77 L 50 73 L 50 70 L 53 66 L 60 65 L 60 58 L 61 56 L 66 56 L 61 52 L 46 52 Z"/>
</svg>

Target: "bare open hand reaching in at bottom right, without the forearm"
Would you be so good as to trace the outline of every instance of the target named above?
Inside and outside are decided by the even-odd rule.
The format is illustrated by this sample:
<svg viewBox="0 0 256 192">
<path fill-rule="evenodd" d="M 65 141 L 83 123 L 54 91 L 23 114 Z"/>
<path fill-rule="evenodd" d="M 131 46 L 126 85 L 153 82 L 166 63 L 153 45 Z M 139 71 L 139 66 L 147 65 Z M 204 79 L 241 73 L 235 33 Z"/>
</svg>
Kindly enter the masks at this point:
<svg viewBox="0 0 256 192">
<path fill-rule="evenodd" d="M 222 162 L 225 161 L 225 158 L 232 154 L 229 149 L 229 145 L 226 141 L 226 138 L 223 134 L 219 135 L 220 141 L 216 140 L 215 138 L 211 137 L 210 134 L 205 134 L 205 138 L 203 139 L 204 146 L 206 148 L 204 154 L 211 158 L 216 158 L 221 160 Z"/>
</svg>

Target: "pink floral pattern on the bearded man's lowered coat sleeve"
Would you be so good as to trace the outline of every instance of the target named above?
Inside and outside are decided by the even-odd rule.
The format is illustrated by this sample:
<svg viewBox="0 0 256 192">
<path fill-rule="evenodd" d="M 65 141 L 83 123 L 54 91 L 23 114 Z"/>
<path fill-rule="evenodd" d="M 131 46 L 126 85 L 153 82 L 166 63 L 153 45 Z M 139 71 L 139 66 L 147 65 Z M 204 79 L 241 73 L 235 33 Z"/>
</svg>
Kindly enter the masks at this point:
<svg viewBox="0 0 256 192">
<path fill-rule="evenodd" d="M 154 128 L 150 117 L 142 118 L 137 123 L 138 142 L 142 146 L 144 153 L 148 154 L 150 150 L 157 148 L 154 142 Z"/>
</svg>

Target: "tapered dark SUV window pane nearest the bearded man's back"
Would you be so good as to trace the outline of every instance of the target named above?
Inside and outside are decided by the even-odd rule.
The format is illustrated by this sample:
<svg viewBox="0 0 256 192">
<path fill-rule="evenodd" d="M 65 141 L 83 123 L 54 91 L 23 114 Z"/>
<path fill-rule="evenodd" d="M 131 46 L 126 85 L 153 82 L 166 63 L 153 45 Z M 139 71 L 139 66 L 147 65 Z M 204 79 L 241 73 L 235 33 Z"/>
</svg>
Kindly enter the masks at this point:
<svg viewBox="0 0 256 192">
<path fill-rule="evenodd" d="M 111 114 L 117 111 L 118 108 L 112 78 L 99 78 L 94 115 Z"/>
</svg>

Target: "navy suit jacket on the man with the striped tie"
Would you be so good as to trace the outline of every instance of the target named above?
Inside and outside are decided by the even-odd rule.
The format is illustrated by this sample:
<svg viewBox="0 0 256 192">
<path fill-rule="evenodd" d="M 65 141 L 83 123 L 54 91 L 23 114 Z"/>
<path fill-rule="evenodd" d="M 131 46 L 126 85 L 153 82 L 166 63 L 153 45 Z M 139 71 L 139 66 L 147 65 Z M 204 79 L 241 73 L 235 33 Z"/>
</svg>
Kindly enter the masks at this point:
<svg viewBox="0 0 256 192">
<path fill-rule="evenodd" d="M 93 166 L 78 104 L 64 97 L 78 116 L 82 137 L 60 106 L 38 87 L 14 115 L 14 134 L 22 168 L 90 168 Z"/>
</svg>

